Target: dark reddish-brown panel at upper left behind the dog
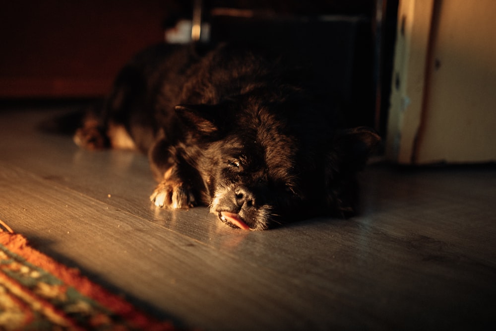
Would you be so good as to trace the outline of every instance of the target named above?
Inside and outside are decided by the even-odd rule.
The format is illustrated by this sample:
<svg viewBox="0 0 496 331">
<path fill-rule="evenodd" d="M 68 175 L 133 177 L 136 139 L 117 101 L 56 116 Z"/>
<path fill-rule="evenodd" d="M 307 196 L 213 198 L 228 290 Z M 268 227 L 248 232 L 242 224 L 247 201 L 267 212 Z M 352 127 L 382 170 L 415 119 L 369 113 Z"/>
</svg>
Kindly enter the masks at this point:
<svg viewBox="0 0 496 331">
<path fill-rule="evenodd" d="M 168 2 L 2 3 L 0 97 L 105 94 L 132 54 L 163 40 Z"/>
</svg>

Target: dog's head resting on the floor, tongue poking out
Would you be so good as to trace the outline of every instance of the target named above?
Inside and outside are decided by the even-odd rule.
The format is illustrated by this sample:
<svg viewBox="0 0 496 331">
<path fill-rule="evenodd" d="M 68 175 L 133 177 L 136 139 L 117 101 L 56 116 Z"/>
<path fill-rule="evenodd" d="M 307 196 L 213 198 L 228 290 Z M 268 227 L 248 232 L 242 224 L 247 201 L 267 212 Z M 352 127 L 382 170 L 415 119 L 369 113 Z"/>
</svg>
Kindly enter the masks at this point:
<svg viewBox="0 0 496 331">
<path fill-rule="evenodd" d="M 228 225 L 264 230 L 353 208 L 355 173 L 379 137 L 335 132 L 295 107 L 248 99 L 176 108 L 201 146 L 194 167 L 210 211 Z"/>
</svg>

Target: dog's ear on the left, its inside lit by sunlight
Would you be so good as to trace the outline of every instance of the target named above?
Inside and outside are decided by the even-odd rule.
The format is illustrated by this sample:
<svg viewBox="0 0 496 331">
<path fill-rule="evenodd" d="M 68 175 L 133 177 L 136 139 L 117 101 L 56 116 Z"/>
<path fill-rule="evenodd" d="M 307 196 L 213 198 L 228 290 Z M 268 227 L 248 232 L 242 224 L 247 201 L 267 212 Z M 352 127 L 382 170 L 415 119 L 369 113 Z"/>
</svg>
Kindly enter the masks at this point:
<svg viewBox="0 0 496 331">
<path fill-rule="evenodd" d="M 176 114 L 199 135 L 215 135 L 224 127 L 225 112 L 219 105 L 178 105 Z"/>
</svg>

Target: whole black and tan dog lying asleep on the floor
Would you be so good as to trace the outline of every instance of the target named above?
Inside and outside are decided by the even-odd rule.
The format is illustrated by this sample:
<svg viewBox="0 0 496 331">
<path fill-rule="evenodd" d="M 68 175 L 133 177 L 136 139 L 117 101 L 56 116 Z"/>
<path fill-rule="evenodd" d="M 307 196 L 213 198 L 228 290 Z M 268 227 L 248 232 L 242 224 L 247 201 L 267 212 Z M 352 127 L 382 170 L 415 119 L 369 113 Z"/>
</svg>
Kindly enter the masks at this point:
<svg viewBox="0 0 496 331">
<path fill-rule="evenodd" d="M 352 211 L 355 174 L 379 137 L 338 130 L 335 118 L 294 72 L 252 52 L 159 45 L 123 68 L 75 139 L 148 153 L 156 206 L 209 205 L 233 227 L 263 230 Z"/>
</svg>

